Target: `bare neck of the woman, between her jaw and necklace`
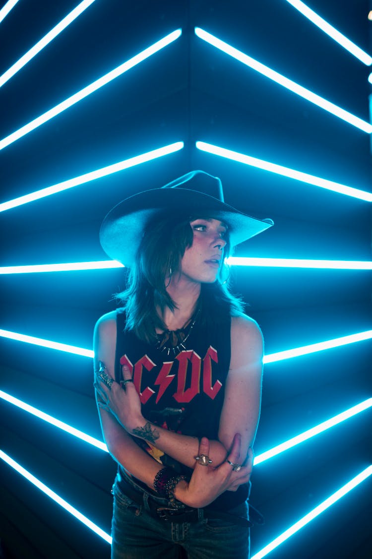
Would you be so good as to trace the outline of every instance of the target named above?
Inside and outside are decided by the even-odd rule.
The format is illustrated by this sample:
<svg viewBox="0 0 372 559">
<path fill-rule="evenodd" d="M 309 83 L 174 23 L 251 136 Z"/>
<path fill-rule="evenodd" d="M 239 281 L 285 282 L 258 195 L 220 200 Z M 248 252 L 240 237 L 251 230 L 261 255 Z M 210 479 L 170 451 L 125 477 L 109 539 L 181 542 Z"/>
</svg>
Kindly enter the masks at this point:
<svg viewBox="0 0 372 559">
<path fill-rule="evenodd" d="M 173 280 L 172 278 L 171 283 L 167 287 L 167 292 L 172 297 L 177 308 L 171 311 L 169 307 L 166 307 L 163 311 L 162 319 L 168 330 L 178 330 L 183 328 L 195 312 L 200 296 L 200 283 L 180 281 L 176 280 L 176 278 Z"/>
</svg>

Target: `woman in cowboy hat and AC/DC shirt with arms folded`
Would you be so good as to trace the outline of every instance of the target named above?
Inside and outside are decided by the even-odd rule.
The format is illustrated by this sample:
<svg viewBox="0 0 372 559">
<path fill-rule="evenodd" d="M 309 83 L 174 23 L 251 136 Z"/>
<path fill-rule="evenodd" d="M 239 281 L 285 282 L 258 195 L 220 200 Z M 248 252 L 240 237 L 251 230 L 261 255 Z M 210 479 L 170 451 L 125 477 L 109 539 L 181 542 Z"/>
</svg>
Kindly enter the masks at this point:
<svg viewBox="0 0 372 559">
<path fill-rule="evenodd" d="M 230 295 L 230 246 L 272 225 L 195 171 L 127 198 L 101 244 L 131 269 L 123 308 L 98 320 L 95 387 L 118 463 L 114 559 L 246 558 L 263 342 Z"/>
</svg>

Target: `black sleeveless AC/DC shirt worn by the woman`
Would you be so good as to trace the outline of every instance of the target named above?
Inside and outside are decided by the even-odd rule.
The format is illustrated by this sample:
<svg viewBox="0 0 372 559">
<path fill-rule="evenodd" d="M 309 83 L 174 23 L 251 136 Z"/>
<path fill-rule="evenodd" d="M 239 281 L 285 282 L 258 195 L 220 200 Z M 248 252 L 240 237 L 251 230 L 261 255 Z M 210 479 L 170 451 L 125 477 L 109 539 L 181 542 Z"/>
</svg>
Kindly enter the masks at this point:
<svg viewBox="0 0 372 559">
<path fill-rule="evenodd" d="M 196 320 L 185 340 L 186 349 L 176 354 L 172 350 L 168 354 L 167 349 L 158 348 L 156 343 L 143 342 L 133 331 L 125 331 L 123 309 L 117 309 L 116 322 L 115 380 L 123 379 L 121 367 L 127 365 L 140 396 L 144 418 L 175 433 L 218 440 L 230 364 L 230 318 L 208 331 Z M 191 468 L 147 441 L 132 438 L 159 463 L 190 479 Z M 121 466 L 119 472 L 124 473 Z M 147 486 L 146 490 L 149 491 Z M 247 499 L 248 492 L 248 486 L 240 486 L 236 492 L 226 491 L 209 506 L 233 508 Z"/>
</svg>

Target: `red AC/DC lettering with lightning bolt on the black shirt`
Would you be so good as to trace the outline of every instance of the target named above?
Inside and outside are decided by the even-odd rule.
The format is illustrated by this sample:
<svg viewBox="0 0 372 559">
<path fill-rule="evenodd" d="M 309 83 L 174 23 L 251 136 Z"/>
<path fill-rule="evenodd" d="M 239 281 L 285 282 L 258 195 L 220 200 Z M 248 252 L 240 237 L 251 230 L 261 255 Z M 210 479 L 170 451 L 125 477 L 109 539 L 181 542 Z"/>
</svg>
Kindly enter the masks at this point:
<svg viewBox="0 0 372 559">
<path fill-rule="evenodd" d="M 176 361 L 178 362 L 177 388 L 173 394 L 173 398 L 180 404 L 190 402 L 194 396 L 200 393 L 200 390 L 203 390 L 207 396 L 214 400 L 222 387 L 222 383 L 216 380 L 212 386 L 212 361 L 218 363 L 218 357 L 216 350 L 210 345 L 203 359 L 201 359 L 195 351 L 186 350 L 179 353 L 175 361 L 167 361 L 162 364 L 159 374 L 153 383 L 154 387 L 159 387 L 156 403 L 161 399 L 176 376 L 175 372 L 172 373 L 172 368 L 175 366 Z M 129 358 L 125 354 L 120 358 L 120 364 L 129 367 L 140 400 L 142 404 L 146 404 L 150 397 L 156 394 L 156 391 L 149 386 L 142 389 L 143 369 L 151 371 L 151 369 L 156 367 L 156 363 L 147 355 L 144 355 L 133 366 L 133 363 L 129 361 Z M 173 368 L 173 371 L 174 370 Z M 187 385 L 189 388 L 186 388 L 186 381 L 188 381 Z M 173 384 L 175 385 L 175 383 Z"/>
</svg>

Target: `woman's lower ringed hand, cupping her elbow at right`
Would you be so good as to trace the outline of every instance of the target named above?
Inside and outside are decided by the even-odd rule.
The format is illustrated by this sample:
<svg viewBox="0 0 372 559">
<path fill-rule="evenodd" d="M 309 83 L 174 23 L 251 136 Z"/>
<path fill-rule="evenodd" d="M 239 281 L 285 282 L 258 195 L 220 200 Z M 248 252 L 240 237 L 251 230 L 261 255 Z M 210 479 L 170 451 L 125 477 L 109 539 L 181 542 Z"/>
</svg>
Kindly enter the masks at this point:
<svg viewBox="0 0 372 559">
<path fill-rule="evenodd" d="M 237 460 L 240 454 L 240 447 L 241 436 L 236 434 L 232 449 L 226 461 L 220 466 L 217 468 L 209 465 L 204 466 L 199 460 L 194 468 L 189 484 L 180 482 L 176 486 L 176 499 L 188 506 L 202 508 L 209 505 L 224 491 L 236 491 L 239 485 L 248 483 L 253 466 L 253 452 L 252 449 L 248 452 L 246 466 L 239 467 Z M 200 440 L 198 455 L 208 457 L 208 453 L 209 440 L 203 437 Z"/>
</svg>

